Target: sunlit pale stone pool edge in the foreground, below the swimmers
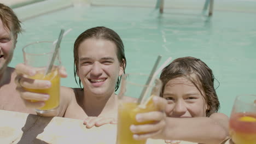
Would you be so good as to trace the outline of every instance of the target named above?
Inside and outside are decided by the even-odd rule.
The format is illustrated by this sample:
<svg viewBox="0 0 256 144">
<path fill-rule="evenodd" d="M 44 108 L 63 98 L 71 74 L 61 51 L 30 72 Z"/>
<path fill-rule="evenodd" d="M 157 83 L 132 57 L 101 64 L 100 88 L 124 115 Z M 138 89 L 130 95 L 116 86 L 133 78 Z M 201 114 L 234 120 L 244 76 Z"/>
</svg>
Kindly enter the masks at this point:
<svg viewBox="0 0 256 144">
<path fill-rule="evenodd" d="M 83 120 L 62 117 L 40 117 L 27 113 L 0 110 L 0 143 L 90 143 L 114 144 L 115 124 L 87 129 Z M 164 140 L 149 139 L 147 144 Z M 181 142 L 192 144 L 192 142 Z"/>
</svg>

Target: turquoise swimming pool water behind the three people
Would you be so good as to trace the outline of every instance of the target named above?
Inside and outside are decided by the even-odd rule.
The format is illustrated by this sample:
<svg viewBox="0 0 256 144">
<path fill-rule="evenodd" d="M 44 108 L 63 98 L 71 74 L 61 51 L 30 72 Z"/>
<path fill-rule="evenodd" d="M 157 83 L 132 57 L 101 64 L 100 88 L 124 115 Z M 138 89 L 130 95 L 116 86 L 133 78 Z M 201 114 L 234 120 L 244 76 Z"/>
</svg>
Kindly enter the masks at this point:
<svg viewBox="0 0 256 144">
<path fill-rule="evenodd" d="M 15 11 L 20 17 L 23 16 L 21 13 L 33 15 L 39 11 L 37 5 L 45 4 L 45 9 L 57 7 L 56 1 L 59 0 L 27 5 Z M 153 8 L 155 1 L 126 2 L 136 7 L 122 6 L 126 5 L 124 0 L 122 3 L 108 1 L 108 5 L 103 0 L 92 2 L 92 5 L 77 2 L 74 7 L 67 2 L 65 9 L 23 19 L 25 31 L 19 35 L 10 66 L 23 62 L 21 49 L 26 44 L 55 40 L 61 28 L 72 28 L 61 44 L 62 64 L 68 72 L 68 78 L 62 79 L 61 83 L 67 87 L 78 87 L 73 76 L 74 40 L 88 28 L 106 26 L 114 29 L 123 39 L 126 73 L 149 73 L 157 55 L 163 56 L 161 63 L 170 56 L 173 59 L 193 56 L 206 62 L 220 82 L 217 88 L 220 112 L 230 115 L 236 95 L 256 94 L 256 10 L 253 9 L 256 2 L 238 1 L 245 5 L 231 5 L 233 9 L 224 9 L 222 5 L 218 9 L 221 4 L 217 1 L 211 19 L 201 14 L 204 1 L 193 3 L 189 8 L 186 6 L 189 3 L 165 1 L 166 8 L 162 15 Z M 173 2 L 177 3 L 175 7 Z"/>
</svg>

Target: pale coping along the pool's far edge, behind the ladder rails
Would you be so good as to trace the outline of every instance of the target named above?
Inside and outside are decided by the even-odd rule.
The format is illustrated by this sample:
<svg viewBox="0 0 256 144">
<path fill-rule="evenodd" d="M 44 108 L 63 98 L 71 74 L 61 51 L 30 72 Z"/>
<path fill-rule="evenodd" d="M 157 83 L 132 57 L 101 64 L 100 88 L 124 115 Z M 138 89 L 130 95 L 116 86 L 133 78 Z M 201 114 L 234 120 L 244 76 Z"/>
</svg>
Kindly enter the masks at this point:
<svg viewBox="0 0 256 144">
<path fill-rule="evenodd" d="M 57 10 L 85 4 L 112 7 L 155 7 L 157 0 L 0 0 L 13 8 L 21 21 Z M 31 4 L 32 3 L 32 4 Z M 165 9 L 202 9 L 205 0 L 165 0 Z M 26 5 L 27 4 L 27 5 Z M 26 5 L 26 7 L 22 7 Z M 42 7 L 43 5 L 43 7 Z M 84 5 L 82 5 L 84 7 Z M 214 11 L 256 13 L 256 0 L 214 0 Z"/>
</svg>

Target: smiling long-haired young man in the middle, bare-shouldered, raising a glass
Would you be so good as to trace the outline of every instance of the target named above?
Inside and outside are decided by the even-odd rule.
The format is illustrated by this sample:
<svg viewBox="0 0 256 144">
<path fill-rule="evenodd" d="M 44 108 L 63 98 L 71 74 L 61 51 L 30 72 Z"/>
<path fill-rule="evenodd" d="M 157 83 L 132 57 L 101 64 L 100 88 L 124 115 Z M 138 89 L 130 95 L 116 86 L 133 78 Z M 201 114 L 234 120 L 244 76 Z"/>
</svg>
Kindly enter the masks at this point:
<svg viewBox="0 0 256 144">
<path fill-rule="evenodd" d="M 74 74 L 79 76 L 79 84 L 82 82 L 84 88 L 61 87 L 58 109 L 54 113 L 38 115 L 85 119 L 87 128 L 115 123 L 118 106 L 115 91 L 126 66 L 124 45 L 119 35 L 106 27 L 90 28 L 80 34 L 74 43 L 74 66 Z M 29 82 L 31 80 L 23 75 L 36 71 L 24 64 L 18 64 L 16 71 L 19 73 L 18 90 L 26 106 L 42 107 L 49 95 L 28 92 L 24 88 L 47 88 L 48 81 Z M 61 77 L 65 77 L 62 72 Z M 39 101 L 31 102 L 31 99 Z"/>
</svg>

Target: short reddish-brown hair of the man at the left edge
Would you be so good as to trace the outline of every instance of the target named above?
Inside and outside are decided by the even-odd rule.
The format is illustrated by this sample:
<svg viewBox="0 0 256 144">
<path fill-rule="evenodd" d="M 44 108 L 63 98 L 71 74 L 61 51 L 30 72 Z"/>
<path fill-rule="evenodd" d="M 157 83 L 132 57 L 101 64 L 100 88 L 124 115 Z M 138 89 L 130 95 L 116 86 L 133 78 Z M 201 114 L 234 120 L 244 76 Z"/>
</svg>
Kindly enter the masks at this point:
<svg viewBox="0 0 256 144">
<path fill-rule="evenodd" d="M 3 26 L 13 32 L 15 37 L 15 44 L 18 34 L 21 33 L 20 20 L 15 15 L 14 11 L 6 5 L 0 3 L 0 19 L 3 22 Z"/>
</svg>

